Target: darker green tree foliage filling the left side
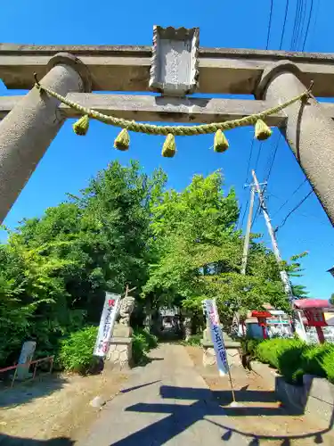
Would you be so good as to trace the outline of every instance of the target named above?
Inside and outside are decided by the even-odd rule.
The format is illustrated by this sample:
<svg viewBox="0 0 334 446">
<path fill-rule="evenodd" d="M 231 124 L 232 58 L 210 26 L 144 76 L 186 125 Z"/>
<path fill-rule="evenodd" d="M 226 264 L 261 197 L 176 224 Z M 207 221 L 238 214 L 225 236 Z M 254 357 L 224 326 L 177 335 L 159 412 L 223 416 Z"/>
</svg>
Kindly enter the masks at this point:
<svg viewBox="0 0 334 446">
<path fill-rule="evenodd" d="M 136 162 L 102 170 L 79 196 L 24 220 L 0 246 L 0 364 L 17 359 L 25 339 L 37 354 L 61 336 L 99 321 L 105 291 L 146 282 L 151 207 L 166 181 Z"/>
</svg>

